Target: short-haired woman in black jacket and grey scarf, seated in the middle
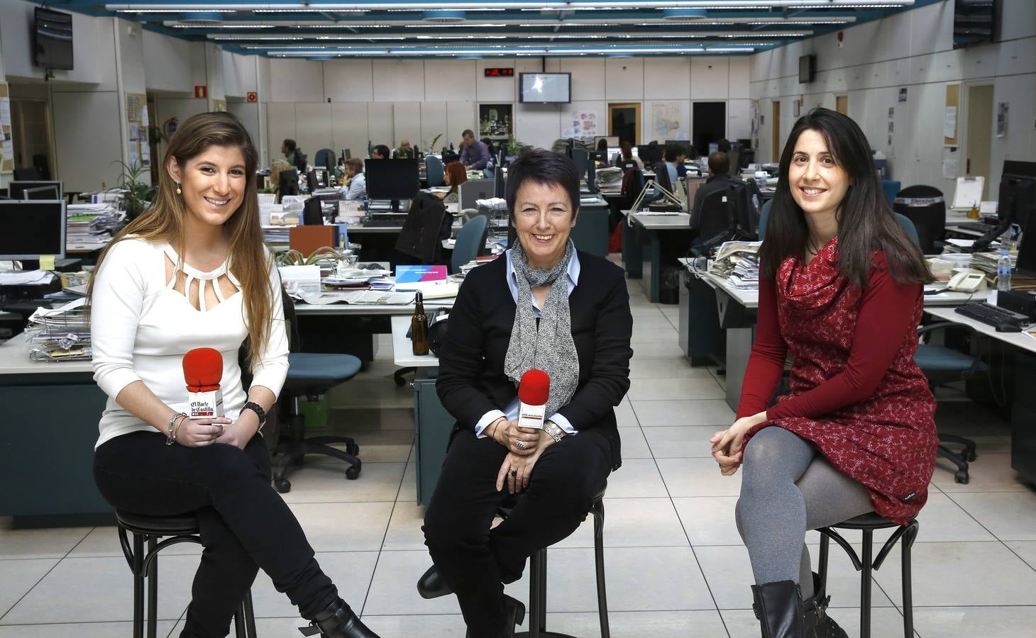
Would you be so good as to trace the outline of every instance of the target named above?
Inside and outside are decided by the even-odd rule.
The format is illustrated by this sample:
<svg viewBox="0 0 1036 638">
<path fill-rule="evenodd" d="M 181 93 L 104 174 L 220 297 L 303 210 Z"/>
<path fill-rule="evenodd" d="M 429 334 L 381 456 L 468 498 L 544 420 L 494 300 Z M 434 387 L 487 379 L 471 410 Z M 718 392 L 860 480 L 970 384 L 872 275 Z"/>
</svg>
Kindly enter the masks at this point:
<svg viewBox="0 0 1036 638">
<path fill-rule="evenodd" d="M 514 635 L 525 610 L 500 583 L 572 533 L 621 465 L 613 408 L 633 354 L 622 268 L 569 238 L 579 212 L 572 160 L 523 152 L 507 201 L 518 241 L 465 278 L 439 358 L 436 389 L 457 425 L 425 515 L 435 564 L 418 584 L 425 598 L 456 593 L 471 638 Z M 517 427 L 517 384 L 531 369 L 550 377 L 543 430 Z"/>
</svg>

